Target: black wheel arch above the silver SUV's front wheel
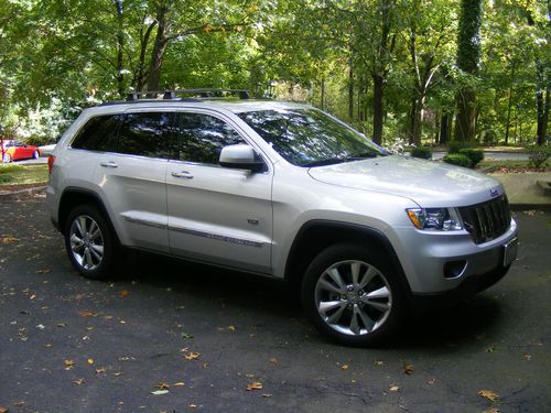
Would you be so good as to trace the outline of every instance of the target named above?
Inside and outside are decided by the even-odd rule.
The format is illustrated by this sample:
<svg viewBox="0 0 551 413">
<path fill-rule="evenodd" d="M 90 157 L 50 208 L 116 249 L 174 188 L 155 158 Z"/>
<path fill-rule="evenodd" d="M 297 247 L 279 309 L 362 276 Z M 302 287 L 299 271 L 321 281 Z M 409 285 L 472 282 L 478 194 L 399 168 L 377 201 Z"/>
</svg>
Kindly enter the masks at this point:
<svg viewBox="0 0 551 413">
<path fill-rule="evenodd" d="M 411 295 L 409 282 L 398 256 L 385 233 L 378 229 L 333 220 L 311 220 L 305 222 L 291 246 L 285 263 L 285 281 L 293 289 L 300 289 L 310 262 L 324 249 L 336 243 L 353 243 L 386 254 L 400 283 Z"/>
</svg>

